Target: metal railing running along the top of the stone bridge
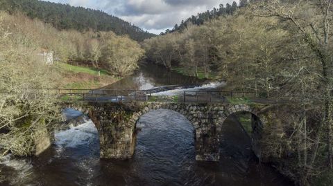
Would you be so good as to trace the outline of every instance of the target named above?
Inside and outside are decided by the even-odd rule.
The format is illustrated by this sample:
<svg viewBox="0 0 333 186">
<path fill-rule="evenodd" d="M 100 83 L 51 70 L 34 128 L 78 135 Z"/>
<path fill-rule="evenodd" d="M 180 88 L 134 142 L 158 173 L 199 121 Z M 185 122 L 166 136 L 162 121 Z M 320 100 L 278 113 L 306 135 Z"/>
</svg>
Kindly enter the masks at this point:
<svg viewBox="0 0 333 186">
<path fill-rule="evenodd" d="M 114 89 L 29 89 L 32 93 L 49 93 L 61 100 L 73 102 L 230 102 L 250 101 L 267 98 L 255 92 L 246 91 L 178 91 L 174 95 L 159 95 L 149 90 Z"/>
</svg>

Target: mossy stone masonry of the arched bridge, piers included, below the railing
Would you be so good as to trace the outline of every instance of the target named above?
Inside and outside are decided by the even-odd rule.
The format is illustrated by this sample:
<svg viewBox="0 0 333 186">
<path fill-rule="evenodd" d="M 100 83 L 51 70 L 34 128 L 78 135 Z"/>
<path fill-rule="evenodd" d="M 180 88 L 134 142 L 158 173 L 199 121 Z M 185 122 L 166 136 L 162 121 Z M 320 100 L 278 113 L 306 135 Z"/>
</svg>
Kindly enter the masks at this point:
<svg viewBox="0 0 333 186">
<path fill-rule="evenodd" d="M 169 109 L 187 118 L 195 130 L 196 160 L 219 161 L 221 128 L 232 113 L 253 113 L 253 151 L 260 158 L 263 123 L 257 109 L 248 105 L 187 104 L 160 102 L 76 103 L 65 104 L 89 115 L 99 131 L 101 158 L 126 160 L 132 158 L 136 145 L 136 123 L 151 110 Z M 158 123 L 157 123 L 158 124 Z"/>
</svg>

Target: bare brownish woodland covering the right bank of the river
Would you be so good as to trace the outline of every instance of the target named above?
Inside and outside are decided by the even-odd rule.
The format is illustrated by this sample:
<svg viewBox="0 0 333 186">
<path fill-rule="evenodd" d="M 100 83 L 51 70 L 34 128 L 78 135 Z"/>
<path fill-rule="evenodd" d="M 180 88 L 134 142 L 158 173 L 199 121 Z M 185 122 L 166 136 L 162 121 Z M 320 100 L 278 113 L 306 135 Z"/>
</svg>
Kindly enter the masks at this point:
<svg viewBox="0 0 333 186">
<path fill-rule="evenodd" d="M 245 1 L 243 1 L 244 3 Z M 300 185 L 333 183 L 332 1 L 253 1 L 204 24 L 146 39 L 149 62 L 293 103 L 264 144 Z M 287 98 L 286 98 L 287 97 Z"/>
</svg>

